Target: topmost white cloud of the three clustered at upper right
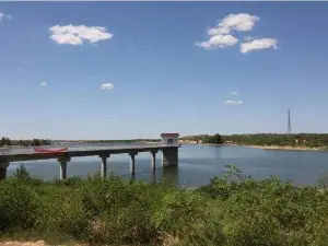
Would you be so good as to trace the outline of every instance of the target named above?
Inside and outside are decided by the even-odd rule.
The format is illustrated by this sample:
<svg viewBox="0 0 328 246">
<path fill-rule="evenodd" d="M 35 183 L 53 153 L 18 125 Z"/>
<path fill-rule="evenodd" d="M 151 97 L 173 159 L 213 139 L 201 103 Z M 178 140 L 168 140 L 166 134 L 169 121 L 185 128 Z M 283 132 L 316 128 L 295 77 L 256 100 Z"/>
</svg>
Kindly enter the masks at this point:
<svg viewBox="0 0 328 246">
<path fill-rule="evenodd" d="M 209 28 L 208 35 L 229 34 L 232 30 L 249 32 L 260 19 L 248 13 L 230 14 L 222 19 L 216 27 Z"/>
</svg>

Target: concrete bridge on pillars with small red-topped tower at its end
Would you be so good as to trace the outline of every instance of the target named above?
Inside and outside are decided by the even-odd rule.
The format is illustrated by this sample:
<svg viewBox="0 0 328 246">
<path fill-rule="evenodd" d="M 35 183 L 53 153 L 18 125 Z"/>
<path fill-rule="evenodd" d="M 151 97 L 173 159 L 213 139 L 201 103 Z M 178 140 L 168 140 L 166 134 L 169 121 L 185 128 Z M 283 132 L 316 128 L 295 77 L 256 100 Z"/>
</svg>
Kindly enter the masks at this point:
<svg viewBox="0 0 328 246">
<path fill-rule="evenodd" d="M 4 150 L 2 153 L 0 152 L 0 179 L 4 179 L 7 177 L 7 168 L 10 163 L 21 161 L 56 159 L 60 167 L 60 179 L 65 179 L 67 177 L 67 166 L 71 159 L 81 156 L 99 156 L 102 165 L 101 173 L 103 177 L 106 177 L 107 160 L 113 154 L 127 153 L 130 156 L 131 175 L 134 175 L 136 155 L 138 155 L 139 152 L 151 153 L 151 166 L 153 169 L 156 168 L 156 153 L 159 151 L 162 152 L 163 167 L 177 165 L 179 144 L 175 139 L 167 139 L 167 136 L 169 137 L 173 134 L 174 133 L 163 133 L 162 143 L 69 147 L 68 151 L 66 152 L 55 153 L 38 153 L 35 152 L 33 148 Z"/>
</svg>

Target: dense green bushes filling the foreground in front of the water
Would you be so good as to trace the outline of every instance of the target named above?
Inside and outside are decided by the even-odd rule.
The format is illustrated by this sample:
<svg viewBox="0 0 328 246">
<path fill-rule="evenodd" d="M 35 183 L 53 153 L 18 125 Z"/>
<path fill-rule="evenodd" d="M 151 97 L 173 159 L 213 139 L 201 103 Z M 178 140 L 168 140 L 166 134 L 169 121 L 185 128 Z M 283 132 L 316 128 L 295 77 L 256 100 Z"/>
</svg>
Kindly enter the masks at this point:
<svg viewBox="0 0 328 246">
<path fill-rule="evenodd" d="M 321 187 L 327 187 L 325 180 Z M 328 191 L 229 166 L 195 190 L 117 177 L 0 181 L 0 236 L 90 245 L 327 245 Z"/>
</svg>

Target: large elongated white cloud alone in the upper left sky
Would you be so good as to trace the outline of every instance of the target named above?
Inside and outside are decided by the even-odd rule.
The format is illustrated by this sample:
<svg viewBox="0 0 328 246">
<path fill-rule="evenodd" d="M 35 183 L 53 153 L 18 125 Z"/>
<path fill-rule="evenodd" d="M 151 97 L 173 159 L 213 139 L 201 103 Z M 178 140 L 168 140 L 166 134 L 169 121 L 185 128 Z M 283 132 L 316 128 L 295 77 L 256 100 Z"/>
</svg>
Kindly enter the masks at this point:
<svg viewBox="0 0 328 246">
<path fill-rule="evenodd" d="M 49 28 L 50 38 L 57 44 L 82 45 L 84 40 L 91 44 L 113 38 L 113 34 L 102 26 L 55 25 Z"/>
</svg>

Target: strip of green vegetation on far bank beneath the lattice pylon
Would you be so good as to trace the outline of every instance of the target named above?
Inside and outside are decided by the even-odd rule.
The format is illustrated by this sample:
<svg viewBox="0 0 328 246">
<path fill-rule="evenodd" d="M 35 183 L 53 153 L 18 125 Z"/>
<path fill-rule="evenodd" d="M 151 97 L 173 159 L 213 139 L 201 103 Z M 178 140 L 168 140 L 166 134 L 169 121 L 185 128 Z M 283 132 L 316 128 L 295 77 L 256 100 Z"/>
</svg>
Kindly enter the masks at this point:
<svg viewBox="0 0 328 246">
<path fill-rule="evenodd" d="M 200 134 L 184 137 L 181 140 L 191 140 L 207 143 L 214 136 Z M 280 147 L 308 147 L 327 148 L 328 133 L 298 133 L 298 134 L 231 134 L 222 136 L 224 143 L 234 143 L 243 145 L 280 145 Z"/>
</svg>

